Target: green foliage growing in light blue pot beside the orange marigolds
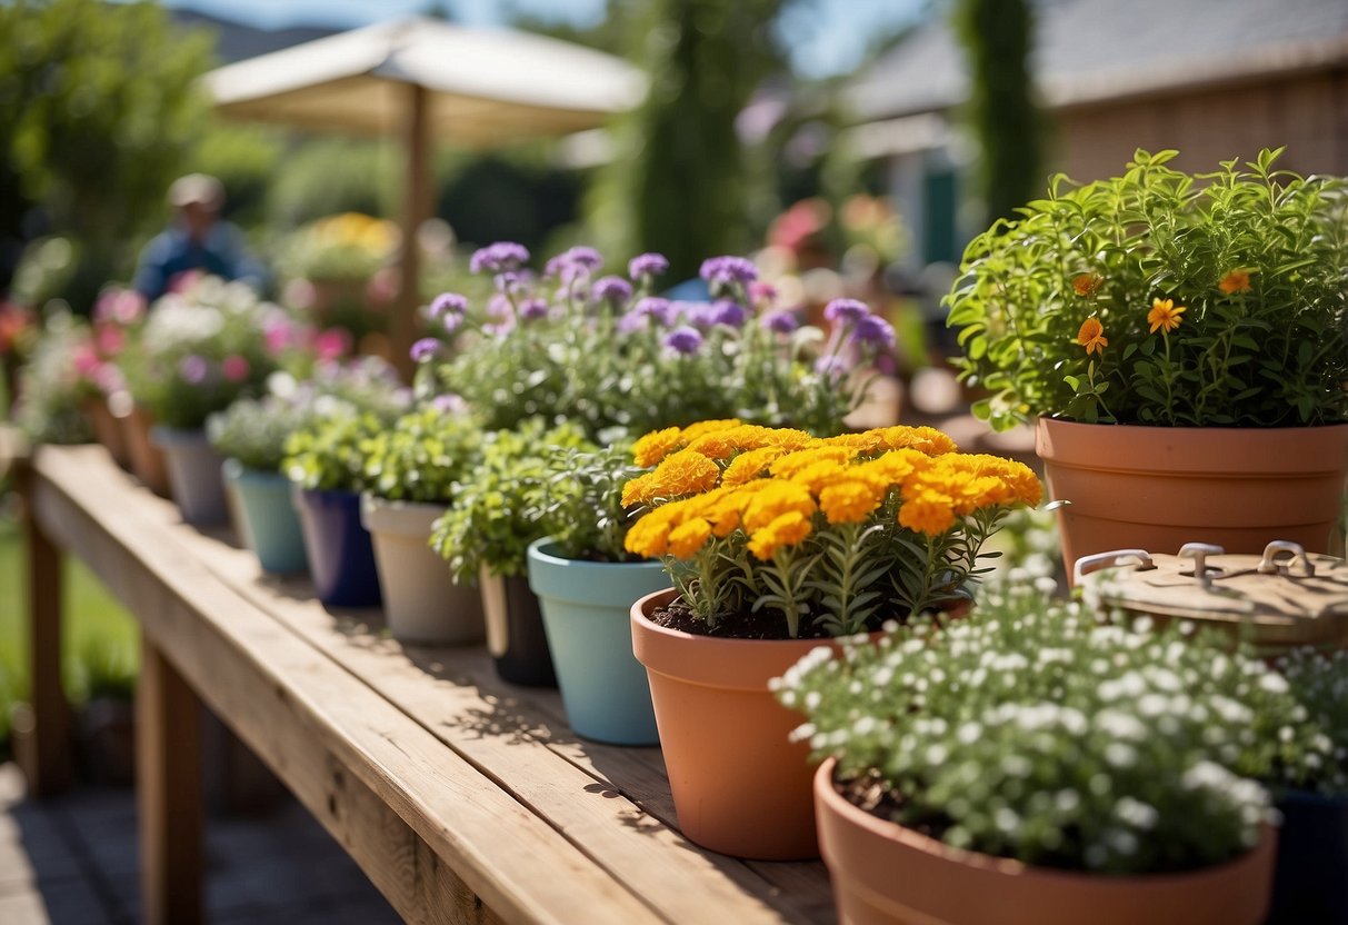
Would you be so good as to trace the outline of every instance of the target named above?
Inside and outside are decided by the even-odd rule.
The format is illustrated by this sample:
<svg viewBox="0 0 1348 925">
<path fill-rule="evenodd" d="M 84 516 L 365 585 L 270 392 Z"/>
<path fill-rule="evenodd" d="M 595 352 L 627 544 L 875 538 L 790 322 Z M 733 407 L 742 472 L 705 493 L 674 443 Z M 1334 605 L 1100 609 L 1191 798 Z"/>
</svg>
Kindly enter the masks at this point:
<svg viewBox="0 0 1348 925">
<path fill-rule="evenodd" d="M 632 464 L 625 442 L 594 448 L 551 448 L 538 516 L 563 558 L 638 562 L 623 549 L 632 525 L 623 485 L 644 469 Z"/>
</svg>

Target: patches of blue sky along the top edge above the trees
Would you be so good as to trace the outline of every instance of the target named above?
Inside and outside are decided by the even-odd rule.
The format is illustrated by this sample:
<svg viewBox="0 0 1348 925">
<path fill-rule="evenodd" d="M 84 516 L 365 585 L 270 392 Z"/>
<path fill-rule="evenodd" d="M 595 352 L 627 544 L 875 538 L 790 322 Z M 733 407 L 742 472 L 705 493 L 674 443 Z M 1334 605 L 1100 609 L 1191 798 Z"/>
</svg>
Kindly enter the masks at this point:
<svg viewBox="0 0 1348 925">
<path fill-rule="evenodd" d="M 735 0 L 725 0 L 735 3 Z M 429 0 L 162 0 L 167 7 L 198 9 L 263 28 L 334 26 L 349 28 L 415 13 Z M 925 0 L 797 0 L 779 24 L 802 77 L 829 77 L 853 70 L 869 40 L 914 22 Z M 577 26 L 594 24 L 604 0 L 448 0 L 456 22 L 500 26 L 510 9 Z"/>
</svg>

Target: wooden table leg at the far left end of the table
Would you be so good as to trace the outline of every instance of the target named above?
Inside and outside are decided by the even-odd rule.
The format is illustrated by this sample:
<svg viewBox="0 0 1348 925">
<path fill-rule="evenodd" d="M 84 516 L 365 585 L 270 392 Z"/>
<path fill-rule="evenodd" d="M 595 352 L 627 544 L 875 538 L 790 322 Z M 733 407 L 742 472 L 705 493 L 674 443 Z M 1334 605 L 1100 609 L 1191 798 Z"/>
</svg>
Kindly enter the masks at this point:
<svg viewBox="0 0 1348 925">
<path fill-rule="evenodd" d="M 15 469 L 23 500 L 23 534 L 28 550 L 28 677 L 31 712 L 16 716 L 16 754 L 28 778 L 28 793 L 47 797 L 70 787 L 70 704 L 61 686 L 61 550 L 32 510 L 36 475 L 20 461 Z"/>
</svg>

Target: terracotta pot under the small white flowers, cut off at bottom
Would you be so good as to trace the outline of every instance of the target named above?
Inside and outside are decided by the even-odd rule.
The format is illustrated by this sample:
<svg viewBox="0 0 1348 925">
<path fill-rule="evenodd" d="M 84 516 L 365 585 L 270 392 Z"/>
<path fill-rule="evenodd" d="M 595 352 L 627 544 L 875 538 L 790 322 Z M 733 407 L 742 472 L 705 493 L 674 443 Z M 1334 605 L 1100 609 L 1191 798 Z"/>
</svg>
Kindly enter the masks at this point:
<svg viewBox="0 0 1348 925">
<path fill-rule="evenodd" d="M 1029 867 L 919 835 L 853 806 L 814 774 L 820 847 L 842 925 L 1258 925 L 1268 910 L 1278 836 L 1185 874 L 1104 876 Z"/>
</svg>

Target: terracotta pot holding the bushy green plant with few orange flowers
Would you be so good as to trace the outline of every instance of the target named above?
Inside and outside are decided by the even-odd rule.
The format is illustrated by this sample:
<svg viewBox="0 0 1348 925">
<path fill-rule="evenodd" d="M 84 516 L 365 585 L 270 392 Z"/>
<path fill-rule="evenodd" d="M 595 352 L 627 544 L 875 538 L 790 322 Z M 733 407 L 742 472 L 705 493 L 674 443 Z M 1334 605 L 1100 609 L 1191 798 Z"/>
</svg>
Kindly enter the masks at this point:
<svg viewBox="0 0 1348 925">
<path fill-rule="evenodd" d="M 1335 547 L 1348 425 L 1140 427 L 1039 418 L 1037 450 L 1058 508 L 1062 558 L 1186 542 L 1262 553 L 1273 539 Z"/>
</svg>

